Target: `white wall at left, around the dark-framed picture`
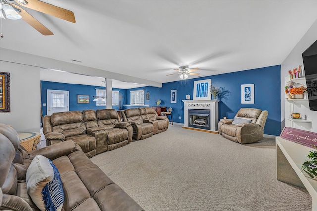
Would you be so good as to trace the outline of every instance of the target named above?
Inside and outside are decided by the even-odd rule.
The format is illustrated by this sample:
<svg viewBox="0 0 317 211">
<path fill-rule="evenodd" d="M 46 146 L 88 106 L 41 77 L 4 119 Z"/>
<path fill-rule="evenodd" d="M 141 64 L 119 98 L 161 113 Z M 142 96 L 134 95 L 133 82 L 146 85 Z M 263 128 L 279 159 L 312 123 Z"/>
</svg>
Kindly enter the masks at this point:
<svg viewBox="0 0 317 211">
<path fill-rule="evenodd" d="M 0 123 L 17 132 L 40 132 L 40 68 L 0 61 L 0 71 L 10 73 L 11 112 L 0 112 Z"/>
</svg>

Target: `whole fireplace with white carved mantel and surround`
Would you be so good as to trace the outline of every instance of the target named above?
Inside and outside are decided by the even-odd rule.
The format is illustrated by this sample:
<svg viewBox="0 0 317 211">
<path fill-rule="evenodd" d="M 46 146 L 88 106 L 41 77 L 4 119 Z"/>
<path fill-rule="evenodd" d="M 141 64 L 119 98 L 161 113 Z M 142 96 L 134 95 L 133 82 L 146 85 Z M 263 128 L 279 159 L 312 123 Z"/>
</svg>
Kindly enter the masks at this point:
<svg viewBox="0 0 317 211">
<path fill-rule="evenodd" d="M 184 127 L 218 133 L 219 100 L 182 100 Z"/>
</svg>

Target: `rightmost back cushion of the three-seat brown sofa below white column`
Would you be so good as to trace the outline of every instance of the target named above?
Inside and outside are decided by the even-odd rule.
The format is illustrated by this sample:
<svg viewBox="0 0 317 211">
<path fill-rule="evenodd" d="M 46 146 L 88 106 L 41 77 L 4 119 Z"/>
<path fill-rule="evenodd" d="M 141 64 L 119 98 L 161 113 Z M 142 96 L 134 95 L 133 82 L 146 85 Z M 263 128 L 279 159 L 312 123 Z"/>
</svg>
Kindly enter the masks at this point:
<svg viewBox="0 0 317 211">
<path fill-rule="evenodd" d="M 96 110 L 98 126 L 106 129 L 113 128 L 120 122 L 118 112 L 115 109 Z"/>
</svg>

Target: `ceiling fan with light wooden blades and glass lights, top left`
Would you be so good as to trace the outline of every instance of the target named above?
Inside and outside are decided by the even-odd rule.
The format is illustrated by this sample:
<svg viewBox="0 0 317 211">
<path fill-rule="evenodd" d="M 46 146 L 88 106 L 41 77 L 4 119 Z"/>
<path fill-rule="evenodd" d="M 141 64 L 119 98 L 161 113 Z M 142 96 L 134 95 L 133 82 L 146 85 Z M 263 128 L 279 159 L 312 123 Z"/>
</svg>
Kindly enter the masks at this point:
<svg viewBox="0 0 317 211">
<path fill-rule="evenodd" d="M 10 2 L 15 2 L 10 3 Z M 31 25 L 34 29 L 39 31 L 42 35 L 53 35 L 48 28 L 36 20 L 32 15 L 26 12 L 21 6 L 43 12 L 48 15 L 53 15 L 57 18 L 75 23 L 75 15 L 72 11 L 45 3 L 39 0 L 0 0 L 0 18 L 7 18 L 11 20 L 21 19 Z M 5 13 L 5 17 L 2 13 Z M 3 34 L 1 33 L 1 37 Z"/>
</svg>

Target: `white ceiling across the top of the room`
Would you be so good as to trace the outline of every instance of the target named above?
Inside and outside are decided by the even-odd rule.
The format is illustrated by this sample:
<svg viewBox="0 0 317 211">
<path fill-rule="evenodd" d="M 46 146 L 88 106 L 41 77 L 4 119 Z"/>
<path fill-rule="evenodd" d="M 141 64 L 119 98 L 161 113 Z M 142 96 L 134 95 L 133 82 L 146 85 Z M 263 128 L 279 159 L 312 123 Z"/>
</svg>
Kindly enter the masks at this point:
<svg viewBox="0 0 317 211">
<path fill-rule="evenodd" d="M 210 76 L 281 64 L 317 19 L 317 0 L 43 1 L 76 23 L 26 8 L 54 35 L 4 19 L 1 48 L 159 83 L 180 80 L 166 74 L 181 65 Z"/>
</svg>

